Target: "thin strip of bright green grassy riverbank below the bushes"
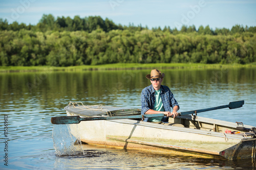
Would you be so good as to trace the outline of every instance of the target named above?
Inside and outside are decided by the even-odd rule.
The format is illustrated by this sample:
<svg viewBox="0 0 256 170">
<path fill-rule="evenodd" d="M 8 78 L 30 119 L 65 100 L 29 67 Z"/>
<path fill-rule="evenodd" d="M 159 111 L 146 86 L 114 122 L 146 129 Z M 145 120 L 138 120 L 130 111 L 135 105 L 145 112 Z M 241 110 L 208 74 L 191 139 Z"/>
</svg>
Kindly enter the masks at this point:
<svg viewBox="0 0 256 170">
<path fill-rule="evenodd" d="M 234 68 L 234 67 L 256 67 L 256 63 L 250 64 L 199 64 L 199 63 L 117 63 L 104 65 L 81 65 L 69 67 L 55 66 L 0 66 L 0 72 L 33 72 L 33 71 L 84 71 L 84 70 L 121 70 L 121 69 L 184 69 L 184 68 Z"/>
</svg>

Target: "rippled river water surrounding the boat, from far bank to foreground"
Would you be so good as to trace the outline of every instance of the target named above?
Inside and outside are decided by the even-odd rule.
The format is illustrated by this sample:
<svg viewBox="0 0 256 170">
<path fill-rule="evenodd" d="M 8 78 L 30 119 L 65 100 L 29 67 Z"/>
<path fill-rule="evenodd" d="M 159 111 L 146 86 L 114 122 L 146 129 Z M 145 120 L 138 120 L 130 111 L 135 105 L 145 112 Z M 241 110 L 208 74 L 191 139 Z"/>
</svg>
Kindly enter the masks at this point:
<svg viewBox="0 0 256 170">
<path fill-rule="evenodd" d="M 165 73 L 162 84 L 174 93 L 179 111 L 244 100 L 242 108 L 208 111 L 199 116 L 256 127 L 255 68 L 161 71 Z M 53 144 L 56 127 L 51 124 L 51 117 L 65 116 L 63 107 L 70 101 L 140 108 L 141 90 L 150 85 L 146 74 L 150 74 L 150 69 L 0 73 L 0 168 L 256 169 L 256 162 L 251 159 L 231 161 L 185 154 L 163 155 L 88 144 L 82 145 L 82 155 L 56 155 Z M 66 135 L 65 126 L 58 130 L 59 136 Z"/>
</svg>

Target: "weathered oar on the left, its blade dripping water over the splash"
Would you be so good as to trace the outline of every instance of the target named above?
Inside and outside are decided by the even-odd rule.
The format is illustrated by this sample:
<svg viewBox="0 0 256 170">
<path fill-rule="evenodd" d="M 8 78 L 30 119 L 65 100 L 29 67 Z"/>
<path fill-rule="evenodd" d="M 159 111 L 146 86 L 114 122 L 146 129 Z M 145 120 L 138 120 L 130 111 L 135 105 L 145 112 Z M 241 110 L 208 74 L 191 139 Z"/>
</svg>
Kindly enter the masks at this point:
<svg viewBox="0 0 256 170">
<path fill-rule="evenodd" d="M 80 117 L 80 116 L 61 116 L 52 117 L 52 124 L 79 124 L 81 121 L 86 120 L 111 120 L 111 119 L 125 119 L 125 118 L 148 118 L 148 117 L 163 117 L 164 114 L 139 114 L 129 116 L 102 116 L 102 117 Z"/>
</svg>

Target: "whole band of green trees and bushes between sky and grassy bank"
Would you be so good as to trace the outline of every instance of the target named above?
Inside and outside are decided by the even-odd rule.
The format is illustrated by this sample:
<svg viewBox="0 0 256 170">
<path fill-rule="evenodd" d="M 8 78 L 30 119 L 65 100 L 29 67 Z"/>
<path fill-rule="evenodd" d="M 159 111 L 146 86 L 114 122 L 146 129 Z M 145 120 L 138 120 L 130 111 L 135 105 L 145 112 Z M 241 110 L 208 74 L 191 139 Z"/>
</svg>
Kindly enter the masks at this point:
<svg viewBox="0 0 256 170">
<path fill-rule="evenodd" d="M 116 25 L 100 16 L 43 15 L 37 25 L 0 19 L 0 66 L 256 62 L 256 27 Z"/>
</svg>

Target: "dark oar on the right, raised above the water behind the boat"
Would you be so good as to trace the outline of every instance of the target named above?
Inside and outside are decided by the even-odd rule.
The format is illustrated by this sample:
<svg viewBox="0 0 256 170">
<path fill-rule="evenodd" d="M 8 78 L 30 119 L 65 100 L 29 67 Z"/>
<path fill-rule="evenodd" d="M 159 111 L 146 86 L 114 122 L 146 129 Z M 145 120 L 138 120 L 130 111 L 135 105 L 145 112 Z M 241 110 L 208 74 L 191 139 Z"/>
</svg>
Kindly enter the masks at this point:
<svg viewBox="0 0 256 170">
<path fill-rule="evenodd" d="M 210 110 L 217 110 L 217 109 L 223 109 L 223 108 L 229 108 L 229 109 L 236 109 L 242 107 L 244 104 L 244 101 L 237 101 L 237 102 L 230 102 L 228 105 L 223 105 L 223 106 L 218 106 L 218 107 L 210 107 L 206 109 L 199 109 L 199 110 L 191 110 L 191 111 L 186 111 L 186 112 L 180 112 L 179 116 L 181 115 L 186 115 L 186 114 L 197 114 L 199 112 L 206 112 Z"/>
</svg>

